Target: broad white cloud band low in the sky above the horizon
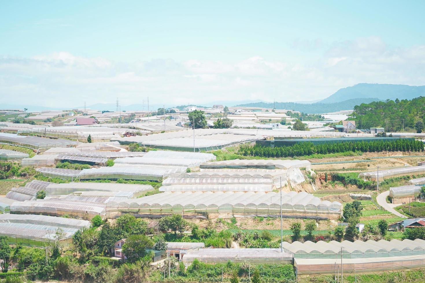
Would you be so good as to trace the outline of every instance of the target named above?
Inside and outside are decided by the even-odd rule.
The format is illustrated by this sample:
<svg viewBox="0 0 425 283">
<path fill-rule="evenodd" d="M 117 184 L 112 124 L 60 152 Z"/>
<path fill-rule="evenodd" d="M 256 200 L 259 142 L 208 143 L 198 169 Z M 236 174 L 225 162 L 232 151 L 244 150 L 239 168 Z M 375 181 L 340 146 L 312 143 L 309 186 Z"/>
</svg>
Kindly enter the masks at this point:
<svg viewBox="0 0 425 283">
<path fill-rule="evenodd" d="M 262 99 L 325 98 L 361 82 L 425 84 L 425 46 L 390 48 L 379 37 L 334 42 L 309 62 L 252 56 L 241 62 L 155 59 L 133 63 L 67 52 L 17 58 L 0 56 L 0 97 L 10 104 L 67 107 Z M 311 57 L 309 57 L 311 58 Z"/>
</svg>

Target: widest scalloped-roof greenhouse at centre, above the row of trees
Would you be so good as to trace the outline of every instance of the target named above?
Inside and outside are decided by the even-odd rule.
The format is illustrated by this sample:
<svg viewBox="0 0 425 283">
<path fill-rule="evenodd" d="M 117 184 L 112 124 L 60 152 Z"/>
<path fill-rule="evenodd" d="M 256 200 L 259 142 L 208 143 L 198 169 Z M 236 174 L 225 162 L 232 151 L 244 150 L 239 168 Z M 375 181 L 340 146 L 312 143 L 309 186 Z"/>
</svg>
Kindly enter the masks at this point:
<svg viewBox="0 0 425 283">
<path fill-rule="evenodd" d="M 164 187 L 166 188 L 166 187 Z M 321 201 L 312 194 L 291 191 L 282 195 L 283 216 L 288 218 L 338 219 L 342 205 Z M 207 218 L 280 216 L 280 194 L 275 192 L 164 192 L 106 205 L 108 218 L 121 213 L 141 217 L 178 213 L 185 217 Z"/>
</svg>

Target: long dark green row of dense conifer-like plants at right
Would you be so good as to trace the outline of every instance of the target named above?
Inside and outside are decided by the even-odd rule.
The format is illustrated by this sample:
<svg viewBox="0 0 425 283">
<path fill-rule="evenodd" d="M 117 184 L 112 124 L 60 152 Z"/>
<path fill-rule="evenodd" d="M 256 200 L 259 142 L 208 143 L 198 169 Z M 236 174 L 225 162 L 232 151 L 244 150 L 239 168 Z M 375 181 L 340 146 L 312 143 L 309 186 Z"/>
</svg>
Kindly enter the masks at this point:
<svg viewBox="0 0 425 283">
<path fill-rule="evenodd" d="M 391 140 L 371 142 L 346 143 L 296 143 L 293 146 L 268 147 L 242 145 L 239 154 L 259 157 L 294 157 L 310 154 L 328 154 L 346 151 L 377 152 L 377 151 L 424 151 L 424 144 L 420 140 Z"/>
</svg>

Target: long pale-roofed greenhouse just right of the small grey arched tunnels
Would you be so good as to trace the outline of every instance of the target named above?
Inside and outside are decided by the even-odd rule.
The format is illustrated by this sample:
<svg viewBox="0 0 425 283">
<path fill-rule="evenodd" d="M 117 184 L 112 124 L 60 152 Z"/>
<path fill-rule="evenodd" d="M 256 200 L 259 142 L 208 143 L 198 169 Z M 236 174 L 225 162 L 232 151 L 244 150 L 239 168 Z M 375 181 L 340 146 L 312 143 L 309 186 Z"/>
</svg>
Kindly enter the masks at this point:
<svg viewBox="0 0 425 283">
<path fill-rule="evenodd" d="M 113 192 L 115 194 L 129 192 L 132 194 L 131 198 L 137 198 L 147 191 L 153 191 L 153 187 L 151 185 L 138 184 L 71 182 L 63 184 L 50 183 L 44 190 L 47 196 L 68 195 L 70 193 L 83 194 L 85 192 L 102 192 L 100 195 L 105 196 L 106 192 Z M 116 196 L 115 194 L 113 196 Z M 94 196 L 93 193 L 87 195 Z"/>
</svg>

